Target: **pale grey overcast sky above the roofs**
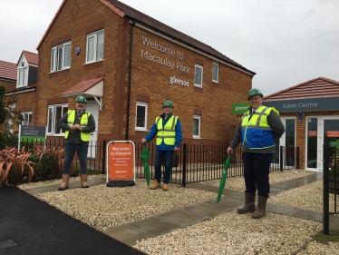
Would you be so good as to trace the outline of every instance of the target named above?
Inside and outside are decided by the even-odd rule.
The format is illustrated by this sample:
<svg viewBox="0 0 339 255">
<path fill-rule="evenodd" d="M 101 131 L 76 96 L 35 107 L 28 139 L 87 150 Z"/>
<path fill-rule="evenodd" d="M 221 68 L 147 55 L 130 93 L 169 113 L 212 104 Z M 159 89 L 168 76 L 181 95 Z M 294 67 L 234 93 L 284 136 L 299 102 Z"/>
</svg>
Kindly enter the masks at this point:
<svg viewBox="0 0 339 255">
<path fill-rule="evenodd" d="M 0 0 L 0 60 L 17 63 L 23 50 L 37 53 L 62 2 Z M 339 81 L 337 0 L 121 2 L 257 73 L 253 87 L 264 95 L 319 76 Z"/>
</svg>

